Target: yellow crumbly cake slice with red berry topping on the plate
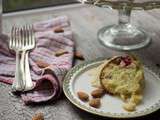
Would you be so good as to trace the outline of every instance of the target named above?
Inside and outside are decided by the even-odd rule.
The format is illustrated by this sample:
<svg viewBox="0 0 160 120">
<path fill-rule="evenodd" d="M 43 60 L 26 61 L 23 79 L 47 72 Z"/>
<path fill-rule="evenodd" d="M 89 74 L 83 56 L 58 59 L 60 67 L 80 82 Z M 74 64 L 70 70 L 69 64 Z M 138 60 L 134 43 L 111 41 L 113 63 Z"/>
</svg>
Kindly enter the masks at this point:
<svg viewBox="0 0 160 120">
<path fill-rule="evenodd" d="M 119 96 L 123 108 L 134 111 L 142 100 L 144 71 L 134 56 L 116 56 L 108 60 L 100 71 L 100 83 L 107 93 Z"/>
</svg>

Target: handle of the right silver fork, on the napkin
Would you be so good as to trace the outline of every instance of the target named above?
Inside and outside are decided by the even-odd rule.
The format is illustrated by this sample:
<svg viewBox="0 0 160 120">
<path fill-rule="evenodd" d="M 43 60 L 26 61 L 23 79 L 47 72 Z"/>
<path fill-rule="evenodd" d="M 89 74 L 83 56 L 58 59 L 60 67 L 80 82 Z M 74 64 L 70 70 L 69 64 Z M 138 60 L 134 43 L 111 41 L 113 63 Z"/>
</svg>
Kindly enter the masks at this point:
<svg viewBox="0 0 160 120">
<path fill-rule="evenodd" d="M 23 57 L 25 58 L 24 59 L 24 63 L 25 63 L 25 78 L 24 78 L 24 82 L 25 82 L 25 89 L 24 91 L 28 91 L 28 90 L 32 90 L 34 88 L 34 84 L 32 82 L 32 79 L 31 79 L 31 74 L 30 74 L 30 67 L 29 67 L 29 59 L 28 59 L 28 54 L 29 54 L 29 51 L 24 51 L 23 52 Z"/>
</svg>

